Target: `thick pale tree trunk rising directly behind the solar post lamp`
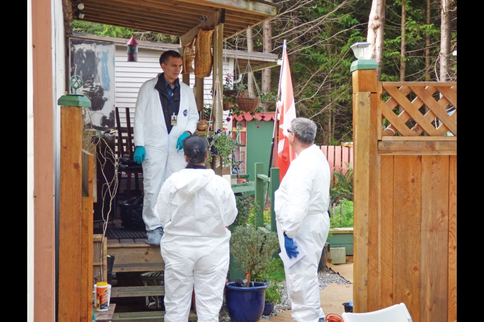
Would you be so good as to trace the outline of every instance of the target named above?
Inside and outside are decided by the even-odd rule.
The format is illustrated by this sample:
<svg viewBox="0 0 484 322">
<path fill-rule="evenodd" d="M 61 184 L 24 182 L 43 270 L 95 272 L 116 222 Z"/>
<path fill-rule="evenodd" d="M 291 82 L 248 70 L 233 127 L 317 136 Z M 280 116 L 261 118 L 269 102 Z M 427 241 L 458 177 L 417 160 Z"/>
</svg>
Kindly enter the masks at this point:
<svg viewBox="0 0 484 322">
<path fill-rule="evenodd" d="M 385 0 L 373 0 L 368 21 L 367 41 L 373 44 L 372 58 L 377 61 L 377 77 L 382 73 L 383 32 L 385 27 Z"/>
</svg>

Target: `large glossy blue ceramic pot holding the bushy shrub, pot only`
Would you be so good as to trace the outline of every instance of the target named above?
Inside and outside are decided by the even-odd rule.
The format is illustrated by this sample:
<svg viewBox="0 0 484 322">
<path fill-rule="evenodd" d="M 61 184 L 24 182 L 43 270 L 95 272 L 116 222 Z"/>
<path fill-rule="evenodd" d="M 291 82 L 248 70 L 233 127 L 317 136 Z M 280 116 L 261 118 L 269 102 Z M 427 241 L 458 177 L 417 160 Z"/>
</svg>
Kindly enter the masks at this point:
<svg viewBox="0 0 484 322">
<path fill-rule="evenodd" d="M 266 283 L 252 282 L 253 287 L 225 285 L 225 300 L 232 322 L 257 322 L 264 311 Z"/>
</svg>

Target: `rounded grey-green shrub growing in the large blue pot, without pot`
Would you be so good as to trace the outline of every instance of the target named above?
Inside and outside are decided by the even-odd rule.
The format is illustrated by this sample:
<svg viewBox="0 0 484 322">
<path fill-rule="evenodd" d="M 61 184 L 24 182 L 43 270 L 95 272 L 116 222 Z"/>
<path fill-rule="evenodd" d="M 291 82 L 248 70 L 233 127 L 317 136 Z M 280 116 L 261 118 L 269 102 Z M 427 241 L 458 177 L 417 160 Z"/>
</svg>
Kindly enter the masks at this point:
<svg viewBox="0 0 484 322">
<path fill-rule="evenodd" d="M 236 227 L 230 238 L 230 254 L 249 273 L 249 282 L 254 273 L 264 271 L 271 265 L 274 260 L 272 255 L 278 246 L 275 232 L 264 234 L 252 225 Z"/>
</svg>

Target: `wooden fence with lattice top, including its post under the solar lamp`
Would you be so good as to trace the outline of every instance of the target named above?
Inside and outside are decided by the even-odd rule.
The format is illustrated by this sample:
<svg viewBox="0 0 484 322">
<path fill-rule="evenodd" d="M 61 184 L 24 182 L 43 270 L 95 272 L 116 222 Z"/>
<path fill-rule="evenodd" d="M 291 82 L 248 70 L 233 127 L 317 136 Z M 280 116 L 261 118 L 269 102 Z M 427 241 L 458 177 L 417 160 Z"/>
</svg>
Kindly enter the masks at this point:
<svg viewBox="0 0 484 322">
<path fill-rule="evenodd" d="M 355 70 L 353 130 L 354 311 L 457 320 L 457 84 Z"/>
</svg>

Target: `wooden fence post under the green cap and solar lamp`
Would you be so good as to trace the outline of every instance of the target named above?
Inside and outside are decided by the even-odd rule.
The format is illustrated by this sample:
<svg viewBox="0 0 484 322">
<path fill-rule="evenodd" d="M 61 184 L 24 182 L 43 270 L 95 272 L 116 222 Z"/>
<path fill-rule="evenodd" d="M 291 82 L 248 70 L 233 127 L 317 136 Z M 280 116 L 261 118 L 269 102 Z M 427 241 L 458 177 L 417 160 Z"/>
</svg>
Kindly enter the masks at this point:
<svg viewBox="0 0 484 322">
<path fill-rule="evenodd" d="M 369 296 L 371 291 L 379 287 L 377 70 L 355 70 L 352 76 L 355 205 L 353 311 L 366 312 L 379 301 L 378 296 Z"/>
</svg>

